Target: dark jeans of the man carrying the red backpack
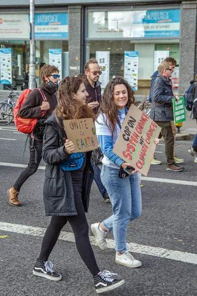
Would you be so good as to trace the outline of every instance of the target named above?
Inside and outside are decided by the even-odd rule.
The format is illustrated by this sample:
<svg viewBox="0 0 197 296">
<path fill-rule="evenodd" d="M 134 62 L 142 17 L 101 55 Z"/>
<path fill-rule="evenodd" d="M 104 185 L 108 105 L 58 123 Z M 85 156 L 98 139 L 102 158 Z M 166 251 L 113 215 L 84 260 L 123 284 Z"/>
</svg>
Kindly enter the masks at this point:
<svg viewBox="0 0 197 296">
<path fill-rule="evenodd" d="M 34 146 L 34 148 L 32 147 Z M 20 190 L 21 186 L 25 183 L 25 181 L 32 176 L 36 171 L 40 164 L 40 161 L 42 159 L 42 141 L 36 141 L 31 139 L 30 141 L 30 161 L 28 163 L 27 168 L 21 173 L 21 175 L 16 180 L 16 183 L 14 184 L 15 190 Z M 36 149 L 36 160 L 35 162 L 35 149 Z"/>
</svg>

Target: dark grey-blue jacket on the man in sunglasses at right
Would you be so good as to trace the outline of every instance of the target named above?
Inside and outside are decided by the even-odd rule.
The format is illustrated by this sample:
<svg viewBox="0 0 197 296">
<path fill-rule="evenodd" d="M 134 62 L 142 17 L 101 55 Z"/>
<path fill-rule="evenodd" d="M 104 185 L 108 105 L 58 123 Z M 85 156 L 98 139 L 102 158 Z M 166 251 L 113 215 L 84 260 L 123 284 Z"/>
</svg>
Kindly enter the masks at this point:
<svg viewBox="0 0 197 296">
<path fill-rule="evenodd" d="M 172 81 L 162 74 L 158 74 L 151 90 L 150 118 L 154 121 L 174 120 L 172 100 L 176 97 L 172 92 Z"/>
</svg>

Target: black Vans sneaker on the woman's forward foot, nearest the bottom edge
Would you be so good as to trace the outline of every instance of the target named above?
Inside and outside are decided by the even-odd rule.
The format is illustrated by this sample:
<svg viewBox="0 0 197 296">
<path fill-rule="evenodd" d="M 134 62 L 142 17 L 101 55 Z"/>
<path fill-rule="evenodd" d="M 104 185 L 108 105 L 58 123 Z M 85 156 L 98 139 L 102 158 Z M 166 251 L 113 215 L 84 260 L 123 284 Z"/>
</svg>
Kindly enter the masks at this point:
<svg viewBox="0 0 197 296">
<path fill-rule="evenodd" d="M 112 279 L 112 275 L 117 275 L 117 273 L 104 270 L 103 272 L 100 271 L 98 275 L 93 276 L 97 294 L 116 289 L 125 283 L 122 279 Z"/>
</svg>

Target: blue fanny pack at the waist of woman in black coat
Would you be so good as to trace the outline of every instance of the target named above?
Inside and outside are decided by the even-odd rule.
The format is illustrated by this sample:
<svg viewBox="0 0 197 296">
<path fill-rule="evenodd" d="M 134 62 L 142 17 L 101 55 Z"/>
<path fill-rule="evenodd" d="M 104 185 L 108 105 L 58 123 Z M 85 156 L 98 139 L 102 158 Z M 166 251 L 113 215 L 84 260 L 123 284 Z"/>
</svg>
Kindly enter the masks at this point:
<svg viewBox="0 0 197 296">
<path fill-rule="evenodd" d="M 85 156 L 83 152 L 72 153 L 66 160 L 59 163 L 63 171 L 76 171 L 79 170 L 84 162 Z"/>
</svg>

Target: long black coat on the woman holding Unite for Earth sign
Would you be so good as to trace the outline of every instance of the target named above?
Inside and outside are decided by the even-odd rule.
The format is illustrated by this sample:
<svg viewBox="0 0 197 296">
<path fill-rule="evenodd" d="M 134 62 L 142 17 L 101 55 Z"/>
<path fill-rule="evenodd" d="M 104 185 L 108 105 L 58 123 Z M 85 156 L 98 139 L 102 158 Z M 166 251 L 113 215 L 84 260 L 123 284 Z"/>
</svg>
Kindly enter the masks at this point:
<svg viewBox="0 0 197 296">
<path fill-rule="evenodd" d="M 46 121 L 43 136 L 42 157 L 46 164 L 43 187 L 44 206 L 46 216 L 74 216 L 77 215 L 74 191 L 70 172 L 64 172 L 59 162 L 70 155 L 64 147 L 65 131 L 58 125 L 55 113 Z M 61 122 L 63 124 L 63 122 Z M 85 212 L 88 212 L 90 189 L 94 178 L 94 171 L 90 162 L 92 151 L 86 152 L 86 166 L 83 176 L 82 201 Z"/>
</svg>

